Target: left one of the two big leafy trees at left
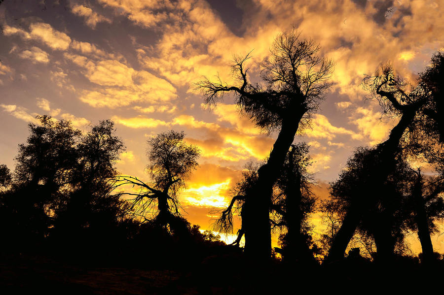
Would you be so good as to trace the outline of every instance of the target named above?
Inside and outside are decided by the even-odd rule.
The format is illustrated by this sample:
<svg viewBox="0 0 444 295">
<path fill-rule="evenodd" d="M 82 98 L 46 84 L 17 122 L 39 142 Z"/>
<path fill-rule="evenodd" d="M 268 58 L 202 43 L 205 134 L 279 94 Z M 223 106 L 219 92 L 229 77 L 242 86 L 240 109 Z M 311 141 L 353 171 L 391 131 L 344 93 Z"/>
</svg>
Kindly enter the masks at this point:
<svg viewBox="0 0 444 295">
<path fill-rule="evenodd" d="M 54 210 L 71 183 L 76 163 L 75 144 L 80 131 L 70 121 L 37 116 L 39 125 L 30 123 L 26 143 L 19 144 L 17 165 L 7 206 L 17 232 L 47 234 Z M 23 233 L 24 234 L 24 233 Z"/>
</svg>

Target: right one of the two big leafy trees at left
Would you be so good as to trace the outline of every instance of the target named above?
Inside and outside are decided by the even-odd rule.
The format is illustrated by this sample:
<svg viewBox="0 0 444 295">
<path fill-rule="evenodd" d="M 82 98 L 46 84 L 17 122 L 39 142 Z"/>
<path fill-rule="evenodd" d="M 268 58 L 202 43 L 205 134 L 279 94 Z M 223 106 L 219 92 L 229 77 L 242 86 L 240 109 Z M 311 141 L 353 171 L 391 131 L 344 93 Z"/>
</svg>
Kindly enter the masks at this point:
<svg viewBox="0 0 444 295">
<path fill-rule="evenodd" d="M 84 227 L 98 231 L 112 228 L 124 215 L 124 202 L 112 194 L 117 175 L 114 165 L 124 151 L 123 142 L 115 135 L 111 120 L 90 127 L 76 145 L 71 191 L 56 212 L 61 230 L 70 235 Z"/>
</svg>

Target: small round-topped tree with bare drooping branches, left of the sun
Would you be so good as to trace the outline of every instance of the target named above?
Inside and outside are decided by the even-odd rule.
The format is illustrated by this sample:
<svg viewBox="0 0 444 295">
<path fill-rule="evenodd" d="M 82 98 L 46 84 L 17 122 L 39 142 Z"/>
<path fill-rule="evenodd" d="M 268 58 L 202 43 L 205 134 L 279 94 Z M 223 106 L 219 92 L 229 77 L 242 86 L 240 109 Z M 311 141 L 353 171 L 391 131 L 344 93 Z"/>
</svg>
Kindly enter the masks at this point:
<svg viewBox="0 0 444 295">
<path fill-rule="evenodd" d="M 134 196 L 132 209 L 143 222 L 158 224 L 170 230 L 180 230 L 182 217 L 179 193 L 185 188 L 185 180 L 198 163 L 199 149 L 187 145 L 184 131 L 166 131 L 148 139 L 148 172 L 150 182 L 134 176 L 118 176 L 117 186 L 130 184 L 140 188 Z M 153 215 L 153 216 L 152 216 Z"/>
</svg>

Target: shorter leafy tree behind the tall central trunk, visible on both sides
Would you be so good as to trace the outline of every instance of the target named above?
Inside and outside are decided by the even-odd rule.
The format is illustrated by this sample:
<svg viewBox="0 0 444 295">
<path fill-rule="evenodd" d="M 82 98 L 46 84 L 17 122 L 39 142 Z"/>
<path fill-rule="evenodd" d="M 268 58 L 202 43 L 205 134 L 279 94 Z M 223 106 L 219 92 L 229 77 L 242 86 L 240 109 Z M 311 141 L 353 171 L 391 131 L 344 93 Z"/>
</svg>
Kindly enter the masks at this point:
<svg viewBox="0 0 444 295">
<path fill-rule="evenodd" d="M 308 145 L 298 143 L 292 145 L 273 187 L 270 205 L 270 222 L 273 229 L 282 232 L 280 241 L 286 262 L 313 261 L 309 246 L 311 241 L 308 217 L 314 211 L 315 197 L 311 192 L 313 180 L 307 172 L 311 164 Z M 258 181 L 258 170 L 261 163 L 249 162 L 242 172 L 242 180 L 236 183 L 231 191 L 232 198 L 221 216 L 216 220 L 214 228 L 224 233 L 233 231 L 233 215 L 241 217 L 242 225 L 232 245 L 239 245 L 242 236 L 249 227 L 255 227 L 255 214 L 249 211 L 249 204 L 255 198 L 255 186 Z M 248 239 L 245 243 L 250 242 Z M 246 246 L 247 247 L 247 246 Z M 316 247 L 315 247 L 316 248 Z"/>
</svg>

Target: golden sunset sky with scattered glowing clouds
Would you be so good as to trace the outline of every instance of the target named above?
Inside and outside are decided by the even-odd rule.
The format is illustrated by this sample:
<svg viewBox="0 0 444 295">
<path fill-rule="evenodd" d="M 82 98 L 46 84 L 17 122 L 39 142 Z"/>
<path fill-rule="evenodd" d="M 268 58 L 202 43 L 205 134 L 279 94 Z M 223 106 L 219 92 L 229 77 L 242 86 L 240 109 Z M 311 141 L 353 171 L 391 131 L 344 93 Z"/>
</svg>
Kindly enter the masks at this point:
<svg viewBox="0 0 444 295">
<path fill-rule="evenodd" d="M 444 47 L 443 14 L 443 0 L 4 0 L 0 163 L 14 168 L 38 114 L 81 130 L 111 118 L 126 146 L 119 172 L 142 179 L 147 139 L 183 130 L 201 149 L 181 195 L 185 217 L 210 229 L 244 165 L 263 160 L 276 134 L 255 128 L 232 98 L 209 109 L 193 83 L 218 74 L 236 83 L 233 55 L 250 51 L 249 79 L 259 82 L 274 38 L 294 27 L 335 62 L 325 101 L 295 139 L 311 146 L 315 193 L 326 198 L 354 148 L 384 141 L 396 124 L 366 99 L 364 74 L 390 61 L 414 84 Z M 444 252 L 443 236 L 433 242 Z"/>
</svg>

